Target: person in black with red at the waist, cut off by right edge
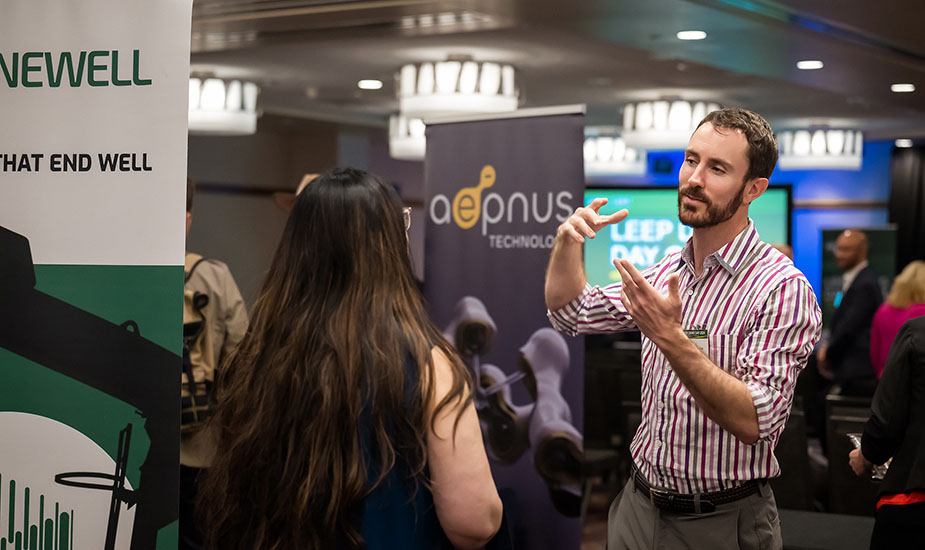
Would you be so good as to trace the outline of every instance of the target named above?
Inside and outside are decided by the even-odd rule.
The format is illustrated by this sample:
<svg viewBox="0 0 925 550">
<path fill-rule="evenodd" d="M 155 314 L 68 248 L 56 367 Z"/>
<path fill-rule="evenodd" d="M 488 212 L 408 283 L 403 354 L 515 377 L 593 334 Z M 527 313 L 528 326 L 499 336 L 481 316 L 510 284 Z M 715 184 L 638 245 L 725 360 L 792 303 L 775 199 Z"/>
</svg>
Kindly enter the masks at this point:
<svg viewBox="0 0 925 550">
<path fill-rule="evenodd" d="M 864 426 L 861 447 L 848 455 L 857 475 L 874 464 L 890 467 L 870 547 L 921 548 L 925 536 L 925 317 L 906 321 L 890 347 L 883 377 Z"/>
</svg>

